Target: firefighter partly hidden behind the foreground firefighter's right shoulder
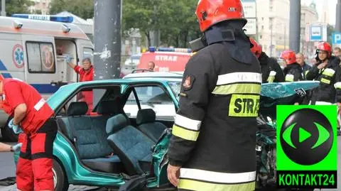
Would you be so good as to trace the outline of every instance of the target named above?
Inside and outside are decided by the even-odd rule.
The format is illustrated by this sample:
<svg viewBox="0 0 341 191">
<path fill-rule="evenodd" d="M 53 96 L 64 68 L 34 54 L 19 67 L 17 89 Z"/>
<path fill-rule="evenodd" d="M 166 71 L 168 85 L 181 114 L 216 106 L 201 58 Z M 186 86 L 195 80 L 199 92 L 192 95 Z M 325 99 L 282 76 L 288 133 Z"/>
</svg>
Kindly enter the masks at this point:
<svg viewBox="0 0 341 191">
<path fill-rule="evenodd" d="M 263 83 L 267 82 L 284 82 L 284 74 L 281 66 L 275 58 L 269 58 L 263 52 L 261 45 L 259 45 L 254 38 L 250 38 L 252 43 L 251 52 L 256 55 L 261 64 L 261 77 Z"/>
</svg>

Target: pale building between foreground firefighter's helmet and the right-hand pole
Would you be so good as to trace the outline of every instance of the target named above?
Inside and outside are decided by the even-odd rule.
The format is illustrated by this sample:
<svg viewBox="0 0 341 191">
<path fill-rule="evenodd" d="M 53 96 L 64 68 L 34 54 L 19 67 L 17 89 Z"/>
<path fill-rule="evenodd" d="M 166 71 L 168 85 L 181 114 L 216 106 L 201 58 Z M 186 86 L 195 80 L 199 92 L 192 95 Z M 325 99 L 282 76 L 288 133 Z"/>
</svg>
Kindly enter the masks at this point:
<svg viewBox="0 0 341 191">
<path fill-rule="evenodd" d="M 258 41 L 263 51 L 278 57 L 289 48 L 290 0 L 257 0 Z"/>
</svg>

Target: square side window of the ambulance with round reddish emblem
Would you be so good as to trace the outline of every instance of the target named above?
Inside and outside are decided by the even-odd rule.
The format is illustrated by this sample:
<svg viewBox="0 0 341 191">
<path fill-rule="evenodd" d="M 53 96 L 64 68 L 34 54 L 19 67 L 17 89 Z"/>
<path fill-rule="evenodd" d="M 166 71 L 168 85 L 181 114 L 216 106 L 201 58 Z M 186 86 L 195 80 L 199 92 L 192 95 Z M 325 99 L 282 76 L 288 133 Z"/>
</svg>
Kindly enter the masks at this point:
<svg viewBox="0 0 341 191">
<path fill-rule="evenodd" d="M 27 42 L 28 72 L 55 73 L 55 51 L 52 43 Z"/>
</svg>

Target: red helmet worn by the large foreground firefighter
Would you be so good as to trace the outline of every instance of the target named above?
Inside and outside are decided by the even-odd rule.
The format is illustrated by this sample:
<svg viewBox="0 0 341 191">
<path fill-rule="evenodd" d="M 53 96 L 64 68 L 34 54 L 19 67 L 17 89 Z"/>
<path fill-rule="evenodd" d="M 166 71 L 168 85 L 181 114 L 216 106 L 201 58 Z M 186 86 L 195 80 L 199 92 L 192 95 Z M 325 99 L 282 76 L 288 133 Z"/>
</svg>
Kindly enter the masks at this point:
<svg viewBox="0 0 341 191">
<path fill-rule="evenodd" d="M 201 32 L 226 20 L 238 19 L 244 21 L 244 24 L 247 23 L 240 0 L 200 0 L 195 14 Z"/>
</svg>

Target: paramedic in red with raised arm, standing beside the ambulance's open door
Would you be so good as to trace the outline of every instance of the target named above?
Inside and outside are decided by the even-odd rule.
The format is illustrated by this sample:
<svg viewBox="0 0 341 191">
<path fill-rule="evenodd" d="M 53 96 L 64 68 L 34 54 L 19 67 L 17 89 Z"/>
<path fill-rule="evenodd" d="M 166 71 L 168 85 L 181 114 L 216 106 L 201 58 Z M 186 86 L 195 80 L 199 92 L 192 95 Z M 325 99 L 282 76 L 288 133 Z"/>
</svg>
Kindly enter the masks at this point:
<svg viewBox="0 0 341 191">
<path fill-rule="evenodd" d="M 80 75 L 80 82 L 87 82 L 94 80 L 94 67 L 92 67 L 90 58 L 85 58 L 82 60 L 82 67 L 79 65 L 73 64 L 70 57 L 66 58 L 66 62 L 70 67 L 75 70 L 77 74 Z M 89 110 L 87 114 L 90 114 L 93 108 L 93 98 L 92 98 L 92 91 L 80 92 L 77 96 L 78 102 L 87 102 L 87 107 Z"/>
</svg>

